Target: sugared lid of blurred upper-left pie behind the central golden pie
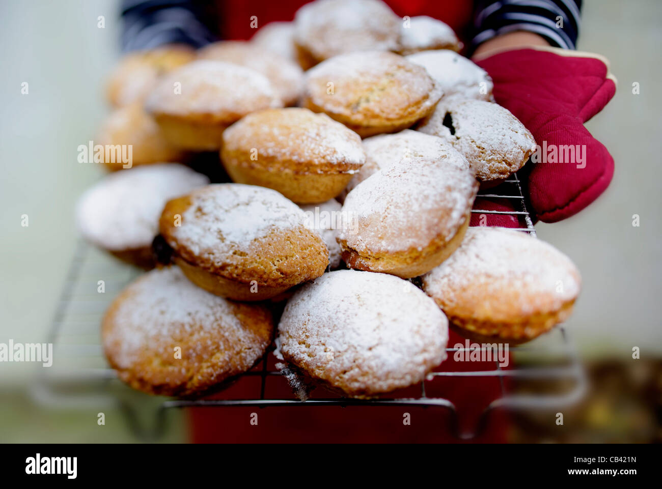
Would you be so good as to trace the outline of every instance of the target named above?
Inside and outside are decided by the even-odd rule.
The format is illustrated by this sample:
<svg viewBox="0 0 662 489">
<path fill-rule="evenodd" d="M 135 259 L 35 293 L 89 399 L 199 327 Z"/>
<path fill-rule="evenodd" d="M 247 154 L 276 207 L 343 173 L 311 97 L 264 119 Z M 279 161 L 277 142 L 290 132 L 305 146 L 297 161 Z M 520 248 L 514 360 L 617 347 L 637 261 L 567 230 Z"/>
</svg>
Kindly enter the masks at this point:
<svg viewBox="0 0 662 489">
<path fill-rule="evenodd" d="M 181 93 L 175 93 L 175 85 Z M 282 107 L 269 79 L 244 66 L 197 60 L 163 77 L 146 101 L 148 112 L 234 122 L 260 109 Z"/>
</svg>

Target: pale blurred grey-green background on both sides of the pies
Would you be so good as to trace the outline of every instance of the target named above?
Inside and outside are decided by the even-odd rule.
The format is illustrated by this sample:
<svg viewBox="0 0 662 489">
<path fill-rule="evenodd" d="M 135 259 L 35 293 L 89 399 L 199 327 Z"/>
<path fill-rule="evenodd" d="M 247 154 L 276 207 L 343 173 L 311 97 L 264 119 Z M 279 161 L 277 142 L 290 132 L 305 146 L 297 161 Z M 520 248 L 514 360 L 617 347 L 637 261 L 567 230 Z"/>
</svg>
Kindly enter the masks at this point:
<svg viewBox="0 0 662 489">
<path fill-rule="evenodd" d="M 101 175 L 76 156 L 107 112 L 102 87 L 118 56 L 117 13 L 110 0 L 0 3 L 1 342 L 46 341 L 77 239 L 73 204 Z M 100 15 L 105 28 L 97 27 Z M 587 356 L 628 357 L 633 346 L 662 354 L 661 18 L 658 0 L 585 1 L 579 48 L 607 56 L 619 81 L 614 100 L 588 125 L 612 152 L 616 174 L 579 216 L 537 227 L 583 275 L 567 326 Z M 21 95 L 24 81 L 29 95 Z M 92 418 L 72 433 L 75 412 L 32 406 L 22 394 L 32 373 L 26 364 L 0 363 L 0 441 L 126 439 L 122 430 L 99 437 Z"/>
</svg>

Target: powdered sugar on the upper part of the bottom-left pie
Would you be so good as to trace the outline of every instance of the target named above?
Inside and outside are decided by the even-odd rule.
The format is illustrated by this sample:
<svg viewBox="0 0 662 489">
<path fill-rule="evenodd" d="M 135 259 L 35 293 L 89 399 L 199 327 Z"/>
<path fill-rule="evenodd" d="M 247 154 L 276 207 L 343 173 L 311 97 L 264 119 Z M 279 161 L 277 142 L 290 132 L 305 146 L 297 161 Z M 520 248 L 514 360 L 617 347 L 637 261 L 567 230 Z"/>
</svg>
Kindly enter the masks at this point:
<svg viewBox="0 0 662 489">
<path fill-rule="evenodd" d="M 224 347 L 222 337 L 245 347 L 262 342 L 242 327 L 224 298 L 193 285 L 178 267 L 142 275 L 120 297 L 113 327 L 104 330 L 104 343 L 113 345 L 113 361 L 120 368 L 130 368 L 146 349 L 157 349 L 162 342 L 169 345 L 181 335 L 204 335 L 206 341 L 217 335 L 219 350 Z"/>
</svg>

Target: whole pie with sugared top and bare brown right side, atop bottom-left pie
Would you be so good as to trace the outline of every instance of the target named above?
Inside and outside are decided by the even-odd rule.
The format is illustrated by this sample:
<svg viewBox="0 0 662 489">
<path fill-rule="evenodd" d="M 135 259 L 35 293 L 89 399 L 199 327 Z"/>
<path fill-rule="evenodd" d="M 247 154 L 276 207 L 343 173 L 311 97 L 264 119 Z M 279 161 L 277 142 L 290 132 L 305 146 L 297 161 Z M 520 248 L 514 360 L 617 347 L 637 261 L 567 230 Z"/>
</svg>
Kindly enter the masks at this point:
<svg viewBox="0 0 662 489">
<path fill-rule="evenodd" d="M 219 184 L 167 202 L 160 232 L 175 263 L 199 287 L 263 300 L 324 273 L 328 249 L 305 218 L 271 189 Z"/>
</svg>

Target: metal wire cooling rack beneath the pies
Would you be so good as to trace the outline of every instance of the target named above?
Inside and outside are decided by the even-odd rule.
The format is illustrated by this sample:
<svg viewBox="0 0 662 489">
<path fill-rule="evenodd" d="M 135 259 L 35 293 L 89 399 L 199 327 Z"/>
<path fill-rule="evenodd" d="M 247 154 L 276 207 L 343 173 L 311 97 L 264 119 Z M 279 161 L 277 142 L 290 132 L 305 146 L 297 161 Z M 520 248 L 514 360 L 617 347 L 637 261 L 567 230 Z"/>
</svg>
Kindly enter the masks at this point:
<svg viewBox="0 0 662 489">
<path fill-rule="evenodd" d="M 536 236 L 532 218 L 526 210 L 520 181 L 512 175 L 495 189 L 482 191 L 479 197 L 496 201 L 516 202 L 518 210 L 513 212 L 474 209 L 473 214 L 508 214 L 514 216 L 522 232 Z M 126 416 L 128 425 L 140 439 L 158 439 L 166 430 L 166 412 L 178 408 L 222 408 L 230 406 L 421 406 L 448 410 L 451 425 L 448 429 L 462 439 L 479 435 L 485 426 L 487 414 L 495 408 L 552 410 L 571 406 L 579 401 L 586 389 L 585 371 L 578 359 L 567 332 L 560 326 L 526 345 L 510 347 L 511 361 L 514 368 L 501 369 L 498 361 L 493 368 L 481 367 L 469 371 L 449 371 L 453 363 L 453 354 L 458 349 L 447 348 L 448 359 L 440 366 L 440 371 L 430 373 L 420 382 L 419 388 L 406 391 L 405 397 L 377 398 L 372 400 L 354 400 L 337 396 L 309 398 L 301 401 L 287 396 L 269 396 L 270 382 L 285 379 L 274 368 L 273 355 L 267 352 L 263 359 L 244 374 L 243 378 L 260 378 L 259 387 L 252 398 L 216 398 L 185 400 L 162 400 L 151 396 L 138 395 L 134 402 L 144 404 L 149 397 L 156 402 L 156 418 L 146 427 L 138 421 L 136 408 L 122 396 L 122 391 L 130 388 L 120 385 L 115 371 L 109 369 L 101 350 L 100 320 L 114 296 L 134 277 L 140 275 L 138 269 L 130 267 L 109 257 L 84 242 L 79 242 L 70 270 L 62 290 L 50 331 L 49 342 L 54 345 L 54 357 L 58 359 L 53 367 L 42 376 L 32 388 L 34 400 L 50 408 L 97 408 L 100 406 L 118 406 Z M 99 281 L 103 281 L 105 292 L 98 292 Z M 459 349 L 464 351 L 465 348 Z M 532 365 L 533 364 L 533 365 Z M 466 366 L 467 363 L 464 363 Z M 473 363 L 471 364 L 473 365 Z M 455 404 L 444 396 L 431 394 L 434 382 L 442 378 L 465 378 L 466 382 L 475 382 L 477 378 L 498 378 L 500 396 L 483 410 L 474 429 L 463 431 L 458 422 L 461 413 Z M 506 383 L 512 380 L 536 380 L 555 382 L 564 386 L 555 394 L 512 393 Z M 117 385 L 116 385 L 117 384 Z M 111 388 L 112 386 L 112 388 Z M 126 394 L 126 392 L 124 392 Z M 220 393 L 222 396 L 223 392 Z M 330 395 L 328 392 L 326 395 Z"/>
</svg>

